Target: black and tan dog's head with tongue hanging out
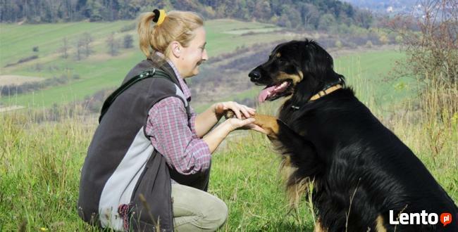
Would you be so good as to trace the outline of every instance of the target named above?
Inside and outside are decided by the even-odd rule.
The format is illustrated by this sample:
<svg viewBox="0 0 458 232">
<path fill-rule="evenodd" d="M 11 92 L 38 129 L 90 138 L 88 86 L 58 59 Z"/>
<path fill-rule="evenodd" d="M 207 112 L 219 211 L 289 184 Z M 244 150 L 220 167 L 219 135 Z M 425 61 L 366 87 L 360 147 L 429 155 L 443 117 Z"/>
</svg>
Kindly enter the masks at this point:
<svg viewBox="0 0 458 232">
<path fill-rule="evenodd" d="M 342 75 L 334 72 L 333 58 L 315 41 L 289 41 L 273 49 L 266 63 L 249 72 L 252 82 L 266 86 L 259 101 L 273 101 L 294 94 L 307 102 L 325 86 L 338 83 Z"/>
</svg>

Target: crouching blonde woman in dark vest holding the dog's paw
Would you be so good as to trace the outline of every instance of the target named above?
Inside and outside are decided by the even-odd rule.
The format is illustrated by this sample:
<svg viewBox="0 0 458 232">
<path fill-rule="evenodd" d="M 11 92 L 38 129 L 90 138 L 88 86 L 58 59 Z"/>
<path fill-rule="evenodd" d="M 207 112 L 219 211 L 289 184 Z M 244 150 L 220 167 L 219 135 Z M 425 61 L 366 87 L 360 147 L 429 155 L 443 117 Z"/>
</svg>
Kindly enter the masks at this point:
<svg viewBox="0 0 458 232">
<path fill-rule="evenodd" d="M 78 212 L 85 221 L 142 231 L 215 231 L 224 224 L 228 208 L 206 193 L 211 153 L 235 129 L 262 129 L 252 124 L 254 109 L 235 102 L 199 115 L 190 108 L 184 79 L 208 59 L 203 25 L 191 12 L 140 17 L 147 60 L 130 70 L 123 91 L 102 109 L 81 173 Z M 150 78 L 129 84 L 144 75 Z M 211 129 L 227 110 L 237 118 Z"/>
</svg>

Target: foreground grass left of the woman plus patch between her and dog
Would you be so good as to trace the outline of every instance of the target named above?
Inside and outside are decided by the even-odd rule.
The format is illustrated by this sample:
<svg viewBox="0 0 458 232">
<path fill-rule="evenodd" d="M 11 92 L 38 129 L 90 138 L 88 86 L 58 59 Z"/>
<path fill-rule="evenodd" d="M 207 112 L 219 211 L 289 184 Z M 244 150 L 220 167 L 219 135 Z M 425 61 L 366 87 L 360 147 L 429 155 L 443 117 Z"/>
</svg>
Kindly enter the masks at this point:
<svg viewBox="0 0 458 232">
<path fill-rule="evenodd" d="M 27 231 L 93 230 L 78 218 L 75 203 L 95 120 L 35 124 L 30 117 L 33 112 L 0 115 L 0 230 L 21 225 Z M 276 173 L 279 159 L 270 142 L 259 134 L 249 136 L 248 145 L 233 136 L 213 159 L 210 192 L 230 208 L 225 231 L 309 231 L 307 207 L 299 208 L 300 222 L 294 211 L 287 214 Z"/>
</svg>

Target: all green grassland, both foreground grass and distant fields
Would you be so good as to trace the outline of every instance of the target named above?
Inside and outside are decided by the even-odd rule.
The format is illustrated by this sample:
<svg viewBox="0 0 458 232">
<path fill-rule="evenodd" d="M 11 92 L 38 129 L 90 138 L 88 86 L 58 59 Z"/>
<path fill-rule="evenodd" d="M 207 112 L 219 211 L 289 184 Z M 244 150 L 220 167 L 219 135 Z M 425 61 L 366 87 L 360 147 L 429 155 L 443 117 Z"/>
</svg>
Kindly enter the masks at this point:
<svg viewBox="0 0 458 232">
<path fill-rule="evenodd" d="M 82 112 L 78 117 L 68 116 L 70 112 L 63 108 L 57 122 L 37 123 L 36 119 L 42 108 L 54 103 L 79 101 L 100 89 L 117 86 L 132 65 L 143 58 L 142 53 L 135 47 L 121 49 L 118 56 L 111 57 L 106 53 L 105 39 L 111 32 L 117 32 L 118 39 L 125 34 L 135 35 L 135 30 L 120 32 L 133 23 L 0 24 L 0 75 L 80 76 L 65 85 L 0 98 L 4 105 L 28 106 L 0 112 L 0 231 L 98 231 L 82 222 L 76 209 L 80 168 L 97 127 L 97 116 L 77 107 L 73 110 Z M 206 22 L 207 49 L 210 57 L 219 56 L 259 41 L 290 38 L 277 30 L 278 27 L 257 22 L 210 20 Z M 80 61 L 61 58 L 58 48 L 62 38 L 68 37 L 74 49 L 72 44 L 84 32 L 94 37 L 94 54 Z M 248 32 L 261 34 L 245 34 Z M 38 59 L 5 67 L 32 56 L 33 46 L 39 46 Z M 361 101 L 419 156 L 456 202 L 458 113 L 438 110 L 443 103 L 435 96 L 440 94 L 418 98 L 421 84 L 414 78 L 390 78 L 395 60 L 403 58 L 404 54 L 398 51 L 352 53 L 335 58 L 335 70 L 345 75 Z M 218 101 L 255 98 L 258 93 L 256 87 L 221 96 Z M 457 99 L 457 91 L 450 92 L 450 96 Z M 256 108 L 258 112 L 274 114 L 279 103 L 264 103 Z M 208 106 L 193 104 L 197 111 Z M 308 196 L 297 208 L 289 207 L 279 165 L 280 156 L 270 141 L 256 132 L 235 131 L 218 148 L 213 154 L 209 192 L 226 202 L 230 210 L 220 231 L 313 230 L 313 207 Z"/>
</svg>

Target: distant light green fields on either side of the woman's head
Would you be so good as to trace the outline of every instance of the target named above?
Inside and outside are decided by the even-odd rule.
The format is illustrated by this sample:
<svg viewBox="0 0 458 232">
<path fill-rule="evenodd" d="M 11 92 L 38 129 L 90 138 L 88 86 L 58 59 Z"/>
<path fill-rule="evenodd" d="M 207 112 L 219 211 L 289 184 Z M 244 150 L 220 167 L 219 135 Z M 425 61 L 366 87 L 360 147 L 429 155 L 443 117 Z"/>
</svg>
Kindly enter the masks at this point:
<svg viewBox="0 0 458 232">
<path fill-rule="evenodd" d="M 237 20 L 209 20 L 205 22 L 207 31 L 207 50 L 209 56 L 218 56 L 221 53 L 234 51 L 240 46 L 250 46 L 254 43 L 287 39 L 283 34 L 227 34 L 243 30 L 249 32 L 267 32 L 277 30 L 278 27 L 258 22 L 240 22 Z M 49 25 L 5 25 L 0 24 L 0 74 L 23 75 L 39 77 L 58 77 L 78 75 L 80 79 L 64 86 L 50 86 L 47 89 L 20 96 L 4 96 L 0 103 L 5 105 L 24 105 L 26 107 L 49 107 L 54 103 L 69 103 L 91 96 L 100 89 L 117 86 L 130 68 L 144 57 L 137 49 L 135 30 L 121 33 L 123 27 L 132 26 L 135 21 L 118 22 L 72 22 Z M 92 50 L 94 54 L 87 59 L 75 60 L 75 43 L 84 32 L 94 38 Z M 111 57 L 107 54 L 105 40 L 112 32 L 115 37 L 122 39 L 125 34 L 135 35 L 135 48 L 121 49 L 120 55 Z M 63 37 L 69 39 L 70 58 L 61 58 L 59 49 L 63 46 Z M 39 47 L 34 53 L 32 48 Z M 21 58 L 38 55 L 39 58 L 11 67 L 8 64 L 16 63 Z M 39 67 L 39 68 L 37 68 Z M 1 83 L 0 83 L 1 84 Z"/>
</svg>

